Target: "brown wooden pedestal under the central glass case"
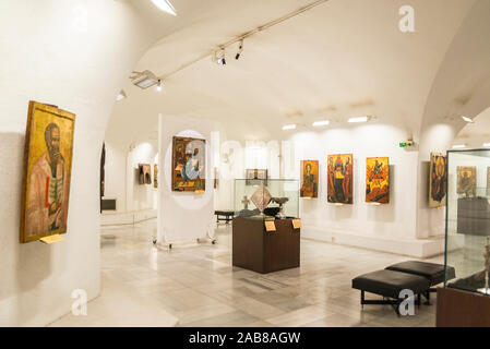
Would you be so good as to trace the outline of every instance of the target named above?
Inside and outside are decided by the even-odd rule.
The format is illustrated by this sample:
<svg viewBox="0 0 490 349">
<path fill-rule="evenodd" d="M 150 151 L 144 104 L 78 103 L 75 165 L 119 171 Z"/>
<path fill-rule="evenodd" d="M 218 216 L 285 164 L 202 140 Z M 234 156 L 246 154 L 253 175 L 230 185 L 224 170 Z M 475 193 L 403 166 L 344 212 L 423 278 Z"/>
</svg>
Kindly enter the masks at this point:
<svg viewBox="0 0 490 349">
<path fill-rule="evenodd" d="M 262 274 L 299 267 L 300 229 L 292 220 L 272 220 L 276 230 L 266 231 L 264 218 L 235 217 L 234 266 Z"/>
</svg>

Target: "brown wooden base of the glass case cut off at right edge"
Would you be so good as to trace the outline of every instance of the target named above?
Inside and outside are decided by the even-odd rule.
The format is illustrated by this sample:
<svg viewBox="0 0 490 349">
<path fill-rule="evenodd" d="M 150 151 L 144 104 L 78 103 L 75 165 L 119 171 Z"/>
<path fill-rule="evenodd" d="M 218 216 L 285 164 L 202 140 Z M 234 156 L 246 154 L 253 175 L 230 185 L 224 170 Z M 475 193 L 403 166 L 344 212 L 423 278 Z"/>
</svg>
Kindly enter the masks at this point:
<svg viewBox="0 0 490 349">
<path fill-rule="evenodd" d="M 490 297 L 454 288 L 439 288 L 437 326 L 490 327 Z"/>
</svg>

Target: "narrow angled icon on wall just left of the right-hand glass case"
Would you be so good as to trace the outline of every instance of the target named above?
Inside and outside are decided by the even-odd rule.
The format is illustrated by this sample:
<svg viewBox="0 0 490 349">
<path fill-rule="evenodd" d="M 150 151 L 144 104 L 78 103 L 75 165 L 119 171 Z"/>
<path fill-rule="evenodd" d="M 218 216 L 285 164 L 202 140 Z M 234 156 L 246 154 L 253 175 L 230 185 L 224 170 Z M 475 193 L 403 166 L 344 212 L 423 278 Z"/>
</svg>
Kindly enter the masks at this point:
<svg viewBox="0 0 490 349">
<path fill-rule="evenodd" d="M 447 192 L 447 157 L 444 154 L 430 154 L 429 207 L 445 206 Z"/>
</svg>

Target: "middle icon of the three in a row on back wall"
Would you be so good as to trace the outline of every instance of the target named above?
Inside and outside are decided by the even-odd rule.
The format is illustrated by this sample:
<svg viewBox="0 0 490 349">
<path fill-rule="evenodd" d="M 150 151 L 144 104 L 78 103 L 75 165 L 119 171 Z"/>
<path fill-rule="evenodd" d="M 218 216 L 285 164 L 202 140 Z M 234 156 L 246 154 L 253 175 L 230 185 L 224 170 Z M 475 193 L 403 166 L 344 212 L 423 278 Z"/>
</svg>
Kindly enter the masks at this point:
<svg viewBox="0 0 490 349">
<path fill-rule="evenodd" d="M 335 204 L 352 204 L 352 154 L 327 157 L 327 201 Z"/>
</svg>

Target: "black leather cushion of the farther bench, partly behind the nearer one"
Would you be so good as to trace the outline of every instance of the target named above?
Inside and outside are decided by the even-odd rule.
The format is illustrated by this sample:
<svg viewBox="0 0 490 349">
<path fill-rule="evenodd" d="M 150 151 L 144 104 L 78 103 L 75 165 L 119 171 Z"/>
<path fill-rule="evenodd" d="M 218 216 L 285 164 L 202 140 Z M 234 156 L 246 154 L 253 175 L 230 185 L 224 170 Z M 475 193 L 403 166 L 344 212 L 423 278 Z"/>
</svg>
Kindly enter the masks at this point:
<svg viewBox="0 0 490 349">
<path fill-rule="evenodd" d="M 419 261 L 407 261 L 390 265 L 386 269 L 419 275 L 428 278 L 431 286 L 444 281 L 444 265 Z M 452 266 L 447 266 L 447 280 L 454 279 L 456 272 Z"/>
</svg>

